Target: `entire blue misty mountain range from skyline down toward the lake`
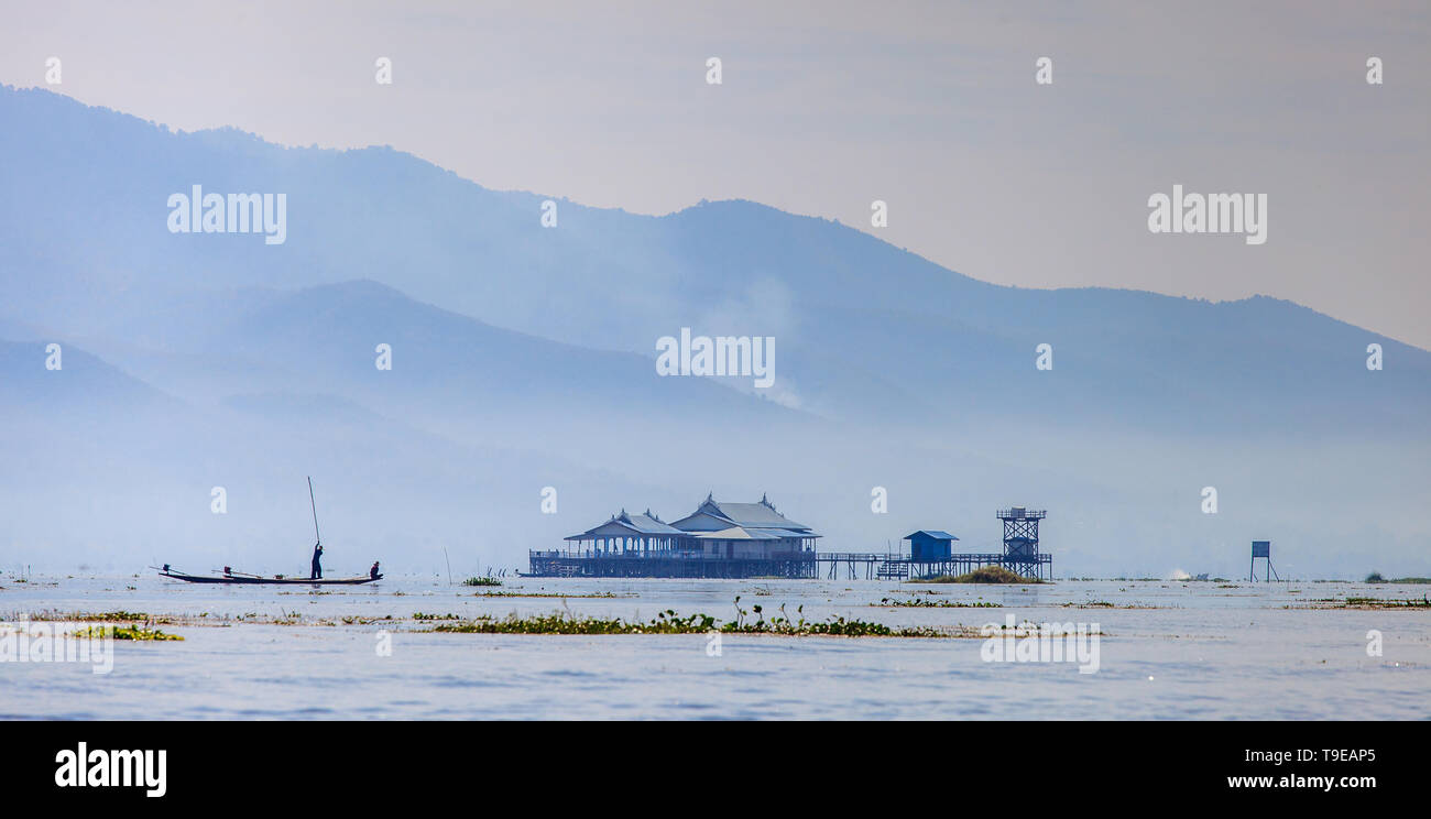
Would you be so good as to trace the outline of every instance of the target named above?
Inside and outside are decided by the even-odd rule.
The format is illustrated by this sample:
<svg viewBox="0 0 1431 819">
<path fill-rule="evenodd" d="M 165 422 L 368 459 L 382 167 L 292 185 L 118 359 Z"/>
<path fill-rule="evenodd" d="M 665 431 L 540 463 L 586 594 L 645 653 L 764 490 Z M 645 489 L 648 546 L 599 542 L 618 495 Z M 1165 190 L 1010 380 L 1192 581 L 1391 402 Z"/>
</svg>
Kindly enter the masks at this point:
<svg viewBox="0 0 1431 819">
<path fill-rule="evenodd" d="M 544 196 L 388 147 L 176 133 L 44 90 L 0 89 L 0 338 L 23 342 L 0 348 L 17 379 L 0 412 L 87 398 L 123 420 L 167 401 L 199 431 L 215 412 L 242 432 L 196 475 L 242 452 L 259 481 L 265 451 L 238 441 L 316 435 L 436 514 L 418 485 L 455 481 L 456 452 L 521 451 L 541 467 L 471 470 L 519 484 L 524 508 L 550 472 L 587 475 L 562 487 L 601 515 L 783 488 L 839 536 L 826 546 L 863 550 L 926 527 L 970 540 L 963 520 L 1027 500 L 1052 507 L 1050 533 L 1060 504 L 1086 521 L 1063 544 L 1095 567 L 1195 570 L 1182 556 L 1216 541 L 1241 557 L 1261 527 L 1302 544 L 1305 566 L 1364 574 L 1348 553 L 1385 548 L 1427 571 L 1431 354 L 1291 302 L 996 286 L 741 200 L 660 218 L 557 200 L 544 228 Z M 193 185 L 285 193 L 285 243 L 170 233 L 167 198 Z M 657 338 L 683 326 L 776 338 L 776 387 L 657 377 Z M 93 351 L 74 358 L 92 378 L 36 371 L 50 339 Z M 378 344 L 392 371 L 373 367 Z M 1040 344 L 1052 371 L 1035 367 Z M 1367 369 L 1369 344 L 1385 369 Z M 135 441 L 157 437 L 126 457 L 177 470 L 139 427 L 152 417 L 133 417 Z M 402 457 L 359 467 L 378 434 Z M 1225 493 L 1216 517 L 1198 511 L 1206 484 Z M 890 517 L 870 513 L 873 485 L 900 488 Z M 654 497 L 617 497 L 637 487 Z M 1407 531 L 1382 530 L 1384 510 L 1412 507 Z M 565 515 L 507 521 L 499 548 L 518 563 L 594 523 Z"/>
</svg>

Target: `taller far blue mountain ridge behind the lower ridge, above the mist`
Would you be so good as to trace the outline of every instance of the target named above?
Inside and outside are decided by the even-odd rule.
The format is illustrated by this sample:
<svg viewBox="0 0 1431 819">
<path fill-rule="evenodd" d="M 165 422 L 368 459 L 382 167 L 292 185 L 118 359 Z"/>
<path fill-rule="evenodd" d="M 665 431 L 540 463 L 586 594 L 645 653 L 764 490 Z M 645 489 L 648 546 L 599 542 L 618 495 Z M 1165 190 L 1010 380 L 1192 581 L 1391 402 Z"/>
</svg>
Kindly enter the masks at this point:
<svg viewBox="0 0 1431 819">
<path fill-rule="evenodd" d="M 40 90 L 4 90 L 0 113 L 0 150 L 26 158 L 0 203 L 10 308 L 66 328 L 107 325 L 126 301 L 143 311 L 202 291 L 371 279 L 498 326 L 645 357 L 681 326 L 773 335 L 774 394 L 831 417 L 1272 432 L 1294 414 L 1319 430 L 1405 428 L 1431 407 L 1431 354 L 1276 299 L 995 286 L 751 202 L 664 218 L 560 202 L 558 226 L 542 228 L 542 198 L 391 149 L 170 133 Z M 166 198 L 196 183 L 286 192 L 286 243 L 170 235 Z M 1374 379 L 1371 342 L 1394 362 Z M 1039 344 L 1053 345 L 1050 374 L 1033 368 Z"/>
</svg>

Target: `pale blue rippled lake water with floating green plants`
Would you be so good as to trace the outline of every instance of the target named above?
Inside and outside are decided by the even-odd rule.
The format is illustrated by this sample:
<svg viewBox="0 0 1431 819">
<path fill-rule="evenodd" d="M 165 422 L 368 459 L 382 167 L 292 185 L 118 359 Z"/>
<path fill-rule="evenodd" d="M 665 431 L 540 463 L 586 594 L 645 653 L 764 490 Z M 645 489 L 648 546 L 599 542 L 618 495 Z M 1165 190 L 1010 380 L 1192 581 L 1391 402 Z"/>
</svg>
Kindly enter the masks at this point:
<svg viewBox="0 0 1431 819">
<path fill-rule="evenodd" d="M 146 577 L 0 580 L 0 619 L 145 611 L 183 641 L 114 643 L 83 663 L 0 662 L 3 719 L 1427 719 L 1431 610 L 1309 609 L 1417 597 L 1425 586 L 1178 581 L 922 586 L 826 580 L 509 580 L 497 590 L 617 597 L 478 597 L 431 577 L 328 588 L 190 586 Z M 1002 609 L 887 609 L 883 597 Z M 733 600 L 804 617 L 982 626 L 1006 614 L 1096 623 L 1099 669 L 993 663 L 979 639 L 422 633 L 414 613 L 727 620 Z M 1066 604 L 1112 603 L 1115 607 Z M 293 617 L 299 624 L 239 621 Z M 343 624 L 342 619 L 398 619 Z M 190 620 L 195 624 L 187 624 Z M 203 624 L 199 624 L 203 623 Z M 379 630 L 391 654 L 379 656 Z M 1368 631 L 1381 656 L 1368 656 Z"/>
</svg>

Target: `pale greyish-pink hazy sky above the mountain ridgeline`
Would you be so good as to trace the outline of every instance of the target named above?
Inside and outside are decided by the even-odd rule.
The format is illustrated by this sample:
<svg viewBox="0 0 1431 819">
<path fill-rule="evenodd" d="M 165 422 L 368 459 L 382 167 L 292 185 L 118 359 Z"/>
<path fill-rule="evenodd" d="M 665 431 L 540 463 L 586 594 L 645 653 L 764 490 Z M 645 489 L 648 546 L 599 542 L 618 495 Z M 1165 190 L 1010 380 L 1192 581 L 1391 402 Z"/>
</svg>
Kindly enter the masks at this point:
<svg viewBox="0 0 1431 819">
<path fill-rule="evenodd" d="M 643 213 L 754 199 L 992 282 L 1268 294 L 1431 348 L 1424 1 L 0 6 L 0 82 L 60 57 L 53 90 L 172 127 Z M 1149 233 L 1175 183 L 1266 193 L 1266 243 Z"/>
</svg>

